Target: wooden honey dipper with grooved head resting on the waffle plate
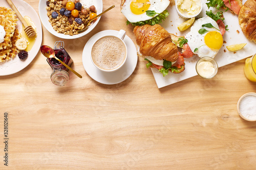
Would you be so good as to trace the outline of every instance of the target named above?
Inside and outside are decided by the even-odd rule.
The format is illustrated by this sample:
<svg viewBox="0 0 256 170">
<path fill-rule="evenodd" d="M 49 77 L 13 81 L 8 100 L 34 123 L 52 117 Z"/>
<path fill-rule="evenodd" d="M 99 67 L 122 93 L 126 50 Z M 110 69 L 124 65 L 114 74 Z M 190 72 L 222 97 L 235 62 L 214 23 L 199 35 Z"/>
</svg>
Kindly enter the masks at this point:
<svg viewBox="0 0 256 170">
<path fill-rule="evenodd" d="M 18 9 L 15 7 L 15 5 L 12 3 L 11 0 L 6 0 L 8 4 L 11 6 L 11 8 L 15 11 L 16 15 L 18 16 L 19 20 L 22 22 L 24 25 L 24 31 L 27 34 L 29 38 L 33 37 L 36 35 L 36 32 L 32 26 L 29 26 L 26 20 L 23 18 L 23 16 L 18 12 Z"/>
</svg>

